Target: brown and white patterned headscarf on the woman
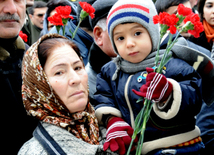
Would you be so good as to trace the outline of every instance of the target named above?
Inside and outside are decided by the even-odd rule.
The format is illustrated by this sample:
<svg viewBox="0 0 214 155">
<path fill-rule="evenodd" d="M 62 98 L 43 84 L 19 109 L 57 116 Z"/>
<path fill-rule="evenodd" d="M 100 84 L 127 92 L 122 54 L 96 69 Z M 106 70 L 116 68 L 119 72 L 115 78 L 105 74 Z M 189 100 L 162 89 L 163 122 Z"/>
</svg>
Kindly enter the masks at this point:
<svg viewBox="0 0 214 155">
<path fill-rule="evenodd" d="M 87 143 L 99 144 L 99 128 L 94 108 L 88 103 L 84 111 L 70 113 L 52 89 L 40 64 L 38 46 L 43 40 L 50 38 L 65 37 L 58 34 L 44 35 L 24 55 L 22 98 L 25 109 L 40 121 L 64 128 Z"/>
</svg>

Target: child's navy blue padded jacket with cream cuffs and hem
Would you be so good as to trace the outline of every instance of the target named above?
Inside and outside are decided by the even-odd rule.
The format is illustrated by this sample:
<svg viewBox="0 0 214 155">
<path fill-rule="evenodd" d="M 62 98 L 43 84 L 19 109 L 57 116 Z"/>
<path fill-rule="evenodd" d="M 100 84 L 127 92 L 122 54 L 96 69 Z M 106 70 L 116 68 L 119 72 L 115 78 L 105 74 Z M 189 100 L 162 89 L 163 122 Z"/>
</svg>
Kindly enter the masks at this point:
<svg viewBox="0 0 214 155">
<path fill-rule="evenodd" d="M 192 66 L 178 58 L 172 58 L 165 67 L 163 73 L 172 83 L 173 93 L 165 107 L 159 107 L 158 104 L 153 106 L 145 132 L 143 154 L 200 136 L 200 130 L 195 126 L 195 116 L 202 104 L 200 75 Z M 111 114 L 122 117 L 134 128 L 134 119 L 143 103 L 136 103 L 139 96 L 132 89 L 139 91 L 145 84 L 147 72 L 130 75 L 120 70 L 117 79 L 112 81 L 115 70 L 116 65 L 111 61 L 98 74 L 94 98 L 99 104 L 95 108 L 95 114 L 101 124 L 103 116 Z"/>
</svg>

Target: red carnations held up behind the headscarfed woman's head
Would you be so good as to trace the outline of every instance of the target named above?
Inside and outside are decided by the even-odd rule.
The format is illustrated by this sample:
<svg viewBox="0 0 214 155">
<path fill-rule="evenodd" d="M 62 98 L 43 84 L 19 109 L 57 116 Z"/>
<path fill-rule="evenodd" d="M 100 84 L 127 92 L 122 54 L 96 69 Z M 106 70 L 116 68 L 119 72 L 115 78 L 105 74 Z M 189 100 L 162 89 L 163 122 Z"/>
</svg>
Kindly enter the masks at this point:
<svg viewBox="0 0 214 155">
<path fill-rule="evenodd" d="M 79 2 L 80 6 L 82 7 L 81 13 L 80 13 L 80 19 L 79 23 L 75 29 L 74 32 L 71 32 L 72 39 L 75 37 L 77 33 L 77 29 L 80 26 L 80 23 L 83 19 L 85 19 L 88 15 L 93 19 L 94 18 L 94 12 L 95 9 L 88 4 L 87 2 Z M 48 21 L 51 22 L 53 25 L 56 26 L 57 32 L 59 33 L 61 26 L 63 27 L 63 36 L 65 35 L 65 26 L 68 22 L 68 19 L 74 19 L 71 14 L 71 6 L 58 6 L 56 7 L 56 13 L 48 17 Z"/>
</svg>

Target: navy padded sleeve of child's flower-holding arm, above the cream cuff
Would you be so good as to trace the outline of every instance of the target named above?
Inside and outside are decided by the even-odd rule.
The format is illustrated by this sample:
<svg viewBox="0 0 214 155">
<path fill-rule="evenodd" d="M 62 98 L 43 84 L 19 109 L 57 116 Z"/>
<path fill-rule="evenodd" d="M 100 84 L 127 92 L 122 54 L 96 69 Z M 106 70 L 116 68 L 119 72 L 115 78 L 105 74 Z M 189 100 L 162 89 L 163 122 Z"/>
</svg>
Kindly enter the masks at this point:
<svg viewBox="0 0 214 155">
<path fill-rule="evenodd" d="M 181 87 L 180 112 L 182 115 L 194 117 L 199 113 L 202 105 L 202 79 L 192 66 L 183 60 L 174 60 L 170 62 L 171 65 L 168 65 L 169 70 L 172 71 L 169 76 Z"/>
</svg>

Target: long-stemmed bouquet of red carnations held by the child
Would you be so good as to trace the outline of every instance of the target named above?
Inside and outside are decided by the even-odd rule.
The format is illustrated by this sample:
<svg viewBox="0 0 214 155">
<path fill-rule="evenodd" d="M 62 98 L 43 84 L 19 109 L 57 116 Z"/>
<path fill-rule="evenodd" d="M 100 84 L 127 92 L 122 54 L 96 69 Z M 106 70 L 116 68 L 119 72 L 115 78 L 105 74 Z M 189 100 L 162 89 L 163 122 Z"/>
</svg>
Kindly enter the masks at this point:
<svg viewBox="0 0 214 155">
<path fill-rule="evenodd" d="M 156 73 L 162 73 L 163 67 L 166 65 L 166 63 L 171 58 L 171 55 L 169 54 L 170 50 L 176 43 L 178 36 L 182 32 L 188 32 L 192 34 L 194 37 L 199 37 L 200 33 L 203 32 L 203 25 L 200 22 L 200 18 L 197 14 L 194 14 L 190 8 L 186 8 L 183 4 L 180 4 L 178 6 L 178 13 L 175 14 L 168 14 L 166 12 L 160 13 L 159 15 L 156 15 L 153 17 L 154 24 L 160 24 L 160 41 L 157 48 L 157 55 L 155 58 L 155 72 Z M 183 23 L 183 24 L 182 24 Z M 176 34 L 177 30 L 179 33 L 176 35 L 175 39 L 173 39 L 173 35 Z M 160 42 L 163 38 L 163 36 L 169 31 L 169 40 L 167 43 L 166 50 L 164 52 L 164 56 L 161 59 L 159 63 L 159 50 L 160 50 Z M 141 96 L 142 92 L 137 92 L 136 90 L 133 90 L 137 95 Z M 137 136 L 137 134 L 140 133 L 140 138 L 137 145 L 136 154 L 140 155 L 143 141 L 144 141 L 144 132 L 146 130 L 146 123 L 149 119 L 150 112 L 152 110 L 154 102 L 151 100 L 140 97 L 137 102 L 144 100 L 144 106 L 140 113 L 137 115 L 135 119 L 135 128 L 134 133 L 132 135 L 132 141 L 129 146 L 127 155 L 130 153 L 133 142 Z"/>
</svg>

